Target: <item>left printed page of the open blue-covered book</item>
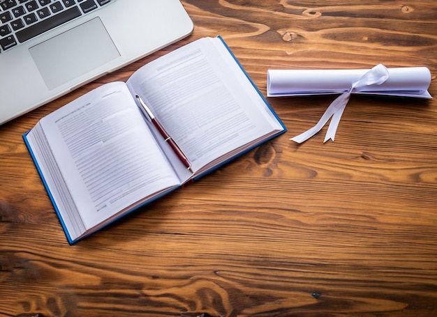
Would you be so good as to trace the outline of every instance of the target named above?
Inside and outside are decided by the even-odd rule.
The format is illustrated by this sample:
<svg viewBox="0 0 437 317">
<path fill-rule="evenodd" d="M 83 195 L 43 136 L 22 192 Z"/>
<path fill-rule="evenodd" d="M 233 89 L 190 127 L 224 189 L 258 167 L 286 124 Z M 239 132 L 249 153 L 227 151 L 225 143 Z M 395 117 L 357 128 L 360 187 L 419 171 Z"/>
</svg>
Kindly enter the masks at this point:
<svg viewBox="0 0 437 317">
<path fill-rule="evenodd" d="M 40 121 L 86 229 L 179 185 L 126 84 L 106 84 Z"/>
</svg>

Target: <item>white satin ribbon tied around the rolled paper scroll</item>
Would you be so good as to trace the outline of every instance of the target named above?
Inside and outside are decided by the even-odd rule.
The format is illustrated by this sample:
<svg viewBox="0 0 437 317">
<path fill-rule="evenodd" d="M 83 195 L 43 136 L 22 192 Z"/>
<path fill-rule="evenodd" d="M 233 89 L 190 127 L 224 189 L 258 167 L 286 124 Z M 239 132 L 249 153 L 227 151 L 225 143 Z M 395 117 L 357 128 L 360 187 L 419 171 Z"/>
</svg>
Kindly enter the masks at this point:
<svg viewBox="0 0 437 317">
<path fill-rule="evenodd" d="M 331 105 L 329 105 L 322 118 L 320 118 L 316 125 L 311 127 L 311 129 L 306 130 L 302 134 L 293 137 L 290 140 L 297 143 L 302 143 L 306 141 L 314 134 L 319 132 L 322 127 L 325 126 L 327 121 L 329 121 L 329 118 L 332 117 L 323 143 L 325 143 L 329 139 L 332 139 L 332 141 L 334 141 L 335 132 L 337 130 L 337 127 L 339 126 L 341 115 L 343 114 L 343 111 L 348 104 L 350 94 L 358 93 L 360 92 L 361 88 L 366 86 L 383 84 L 388 79 L 388 77 L 389 73 L 387 68 L 383 64 L 376 65 L 371 70 L 362 75 L 362 77 L 360 77 L 357 82 L 353 83 L 352 86 L 350 86 L 349 90 L 346 91 L 346 93 L 342 93 L 341 95 L 339 95 L 339 97 L 337 97 L 336 100 L 334 100 Z"/>
</svg>

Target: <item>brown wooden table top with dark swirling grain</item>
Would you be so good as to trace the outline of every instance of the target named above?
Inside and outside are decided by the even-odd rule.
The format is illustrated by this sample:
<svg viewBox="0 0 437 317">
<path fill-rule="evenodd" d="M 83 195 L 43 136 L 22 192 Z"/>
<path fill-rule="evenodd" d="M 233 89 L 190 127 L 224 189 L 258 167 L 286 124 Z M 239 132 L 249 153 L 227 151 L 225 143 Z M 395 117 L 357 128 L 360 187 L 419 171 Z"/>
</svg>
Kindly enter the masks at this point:
<svg viewBox="0 0 437 317">
<path fill-rule="evenodd" d="M 437 1 L 182 1 L 191 36 L 0 126 L 0 316 L 437 316 L 437 102 L 269 98 L 286 134 L 70 246 L 22 134 L 92 88 L 221 35 L 267 70 L 427 66 Z M 340 4 L 339 4 L 340 3 Z"/>
</svg>

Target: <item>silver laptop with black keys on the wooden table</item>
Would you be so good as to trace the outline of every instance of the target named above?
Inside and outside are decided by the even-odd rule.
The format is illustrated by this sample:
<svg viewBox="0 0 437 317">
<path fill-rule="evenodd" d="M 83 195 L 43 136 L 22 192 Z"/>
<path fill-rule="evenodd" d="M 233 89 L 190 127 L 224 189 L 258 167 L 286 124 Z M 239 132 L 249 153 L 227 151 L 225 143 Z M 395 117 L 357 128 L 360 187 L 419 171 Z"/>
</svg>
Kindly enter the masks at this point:
<svg viewBox="0 0 437 317">
<path fill-rule="evenodd" d="M 0 0 L 0 124 L 192 31 L 179 0 Z"/>
</svg>

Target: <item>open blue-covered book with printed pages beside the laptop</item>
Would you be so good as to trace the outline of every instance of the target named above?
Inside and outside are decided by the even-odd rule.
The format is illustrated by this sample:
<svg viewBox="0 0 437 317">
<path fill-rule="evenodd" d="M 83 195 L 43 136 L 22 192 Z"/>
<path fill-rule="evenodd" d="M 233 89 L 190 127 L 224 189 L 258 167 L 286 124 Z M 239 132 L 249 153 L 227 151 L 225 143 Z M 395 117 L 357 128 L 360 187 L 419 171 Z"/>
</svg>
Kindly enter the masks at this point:
<svg viewBox="0 0 437 317">
<path fill-rule="evenodd" d="M 24 141 L 73 244 L 285 131 L 218 37 L 73 100 Z"/>
</svg>

